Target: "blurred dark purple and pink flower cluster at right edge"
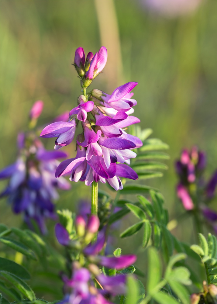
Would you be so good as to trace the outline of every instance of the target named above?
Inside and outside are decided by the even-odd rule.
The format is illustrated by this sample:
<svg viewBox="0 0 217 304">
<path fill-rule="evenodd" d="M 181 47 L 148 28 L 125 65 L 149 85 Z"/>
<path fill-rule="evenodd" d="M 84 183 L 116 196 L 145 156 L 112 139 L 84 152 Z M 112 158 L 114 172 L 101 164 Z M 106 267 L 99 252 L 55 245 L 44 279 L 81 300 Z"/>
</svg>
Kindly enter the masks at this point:
<svg viewBox="0 0 217 304">
<path fill-rule="evenodd" d="M 186 210 L 195 208 L 192 197 L 196 192 L 201 196 L 200 209 L 203 215 L 210 221 L 216 221 L 216 212 L 206 206 L 214 197 L 216 188 L 216 171 L 210 180 L 205 183 L 203 179 L 203 171 L 206 166 L 206 155 L 202 151 L 198 151 L 197 147 L 193 147 L 189 152 L 184 149 L 181 153 L 180 160 L 176 161 L 176 172 L 179 176 L 177 185 L 177 196 L 181 199 Z"/>
</svg>

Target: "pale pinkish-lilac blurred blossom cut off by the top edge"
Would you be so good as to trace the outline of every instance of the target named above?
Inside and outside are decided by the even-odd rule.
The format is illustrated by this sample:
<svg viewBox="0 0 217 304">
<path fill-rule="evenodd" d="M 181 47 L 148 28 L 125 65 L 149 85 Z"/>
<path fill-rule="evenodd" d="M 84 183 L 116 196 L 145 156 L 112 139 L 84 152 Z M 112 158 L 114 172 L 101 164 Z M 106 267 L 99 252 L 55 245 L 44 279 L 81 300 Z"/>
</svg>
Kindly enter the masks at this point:
<svg viewBox="0 0 217 304">
<path fill-rule="evenodd" d="M 198 0 L 143 0 L 140 2 L 151 11 L 167 17 L 192 13 L 200 5 Z"/>
</svg>

